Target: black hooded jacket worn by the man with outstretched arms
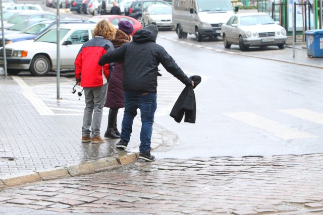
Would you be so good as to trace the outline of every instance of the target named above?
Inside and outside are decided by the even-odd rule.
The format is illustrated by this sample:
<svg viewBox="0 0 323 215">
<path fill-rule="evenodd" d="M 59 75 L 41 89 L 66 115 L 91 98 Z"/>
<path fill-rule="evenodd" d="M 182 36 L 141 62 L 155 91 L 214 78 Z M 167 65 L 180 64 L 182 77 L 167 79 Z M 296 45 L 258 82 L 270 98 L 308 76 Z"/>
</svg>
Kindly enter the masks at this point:
<svg viewBox="0 0 323 215">
<path fill-rule="evenodd" d="M 156 93 L 159 63 L 183 84 L 192 85 L 192 81 L 183 73 L 171 55 L 163 46 L 156 44 L 156 37 L 152 31 L 140 29 L 134 34 L 133 42 L 107 52 L 100 58 L 98 64 L 102 66 L 123 60 L 122 83 L 125 91 Z"/>
</svg>

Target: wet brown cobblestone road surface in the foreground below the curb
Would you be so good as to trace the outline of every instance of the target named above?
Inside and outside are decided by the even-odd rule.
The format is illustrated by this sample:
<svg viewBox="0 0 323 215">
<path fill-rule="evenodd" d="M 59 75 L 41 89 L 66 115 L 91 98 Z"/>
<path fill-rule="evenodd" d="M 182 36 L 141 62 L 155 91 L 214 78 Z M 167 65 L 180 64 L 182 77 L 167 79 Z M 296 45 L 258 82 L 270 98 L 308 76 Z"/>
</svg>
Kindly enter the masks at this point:
<svg viewBox="0 0 323 215">
<path fill-rule="evenodd" d="M 0 208 L 105 214 L 323 214 L 322 167 L 323 154 L 136 162 L 114 171 L 5 189 Z"/>
</svg>

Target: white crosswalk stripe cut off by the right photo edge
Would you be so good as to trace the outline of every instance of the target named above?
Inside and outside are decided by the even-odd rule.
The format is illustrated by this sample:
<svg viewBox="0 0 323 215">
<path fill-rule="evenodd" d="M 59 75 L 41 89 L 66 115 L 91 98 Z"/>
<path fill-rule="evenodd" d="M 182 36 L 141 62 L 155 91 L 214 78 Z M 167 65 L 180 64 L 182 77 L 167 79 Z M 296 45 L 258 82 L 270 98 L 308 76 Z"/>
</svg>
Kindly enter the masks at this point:
<svg viewBox="0 0 323 215">
<path fill-rule="evenodd" d="M 323 125 L 323 114 L 322 113 L 317 113 L 317 112 L 303 109 L 303 108 L 286 109 L 286 110 L 280 110 L 280 111 L 283 113 L 290 114 L 292 116 L 296 116 L 301 119 L 306 119 L 308 121 Z"/>
</svg>

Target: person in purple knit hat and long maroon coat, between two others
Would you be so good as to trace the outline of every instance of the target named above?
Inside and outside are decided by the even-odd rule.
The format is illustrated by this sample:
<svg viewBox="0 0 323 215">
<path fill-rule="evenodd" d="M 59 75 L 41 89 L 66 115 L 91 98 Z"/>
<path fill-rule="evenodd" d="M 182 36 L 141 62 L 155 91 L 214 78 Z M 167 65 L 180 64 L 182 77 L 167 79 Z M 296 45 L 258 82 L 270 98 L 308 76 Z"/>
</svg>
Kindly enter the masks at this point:
<svg viewBox="0 0 323 215">
<path fill-rule="evenodd" d="M 112 40 L 115 49 L 123 44 L 130 42 L 130 35 L 133 32 L 133 25 L 129 21 L 120 21 L 118 23 L 116 39 Z M 109 118 L 107 128 L 104 133 L 105 138 L 120 138 L 120 132 L 117 128 L 117 115 L 119 108 L 125 107 L 123 87 L 122 87 L 123 61 L 117 61 L 113 65 L 113 74 L 109 82 L 104 107 L 109 107 Z"/>
</svg>

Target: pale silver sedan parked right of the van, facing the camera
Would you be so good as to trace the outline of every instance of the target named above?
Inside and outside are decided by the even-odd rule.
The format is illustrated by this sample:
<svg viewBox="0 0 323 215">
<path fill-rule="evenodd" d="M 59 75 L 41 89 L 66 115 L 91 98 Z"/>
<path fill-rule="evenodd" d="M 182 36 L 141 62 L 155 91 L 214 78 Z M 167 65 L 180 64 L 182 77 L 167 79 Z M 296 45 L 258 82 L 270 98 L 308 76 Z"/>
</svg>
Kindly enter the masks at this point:
<svg viewBox="0 0 323 215">
<path fill-rule="evenodd" d="M 277 45 L 283 49 L 287 40 L 285 28 L 266 13 L 235 14 L 221 29 L 224 46 L 239 45 L 241 51 L 250 46 Z"/>
</svg>

